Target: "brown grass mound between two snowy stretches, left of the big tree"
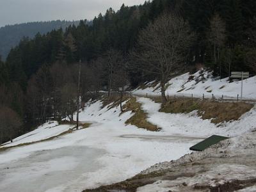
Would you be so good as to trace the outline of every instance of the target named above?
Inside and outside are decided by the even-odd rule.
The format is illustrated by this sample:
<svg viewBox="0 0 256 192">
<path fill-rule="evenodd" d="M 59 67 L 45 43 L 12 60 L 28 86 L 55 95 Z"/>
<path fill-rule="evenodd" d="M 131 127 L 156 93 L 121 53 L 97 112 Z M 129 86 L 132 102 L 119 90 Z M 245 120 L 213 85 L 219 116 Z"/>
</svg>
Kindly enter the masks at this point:
<svg viewBox="0 0 256 192">
<path fill-rule="evenodd" d="M 141 109 L 141 104 L 136 102 L 136 98 L 132 97 L 124 105 L 124 112 L 132 111 L 134 115 L 129 118 L 125 124 L 135 125 L 136 127 L 147 129 L 148 131 L 159 131 L 156 125 L 147 121 L 147 113 Z"/>
</svg>

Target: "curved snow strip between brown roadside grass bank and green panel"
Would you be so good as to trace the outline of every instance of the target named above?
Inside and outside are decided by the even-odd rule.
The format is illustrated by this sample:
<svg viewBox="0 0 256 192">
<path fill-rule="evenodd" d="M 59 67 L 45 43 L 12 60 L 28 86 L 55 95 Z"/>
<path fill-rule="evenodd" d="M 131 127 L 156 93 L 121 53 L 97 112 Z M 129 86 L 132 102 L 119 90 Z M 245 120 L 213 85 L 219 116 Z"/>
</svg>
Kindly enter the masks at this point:
<svg viewBox="0 0 256 192">
<path fill-rule="evenodd" d="M 189 114 L 173 114 L 159 112 L 161 104 L 144 97 L 138 98 L 142 108 L 148 113 L 148 121 L 162 128 L 164 134 L 181 134 L 206 138 L 212 134 L 222 136 L 238 136 L 256 130 L 256 106 L 234 122 L 217 126 L 211 120 L 202 120 L 195 112 Z"/>
</svg>

